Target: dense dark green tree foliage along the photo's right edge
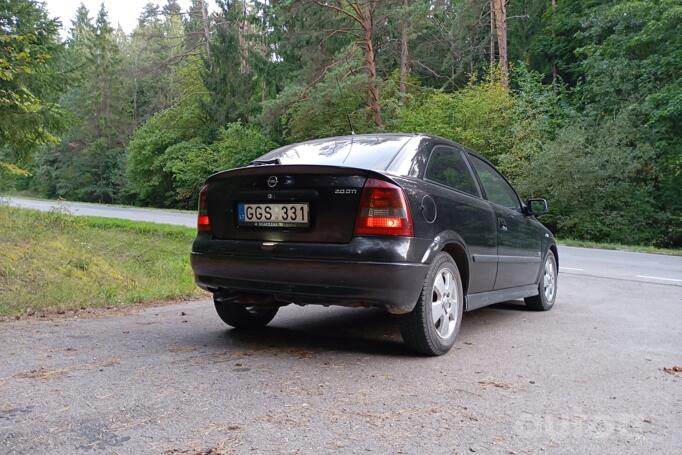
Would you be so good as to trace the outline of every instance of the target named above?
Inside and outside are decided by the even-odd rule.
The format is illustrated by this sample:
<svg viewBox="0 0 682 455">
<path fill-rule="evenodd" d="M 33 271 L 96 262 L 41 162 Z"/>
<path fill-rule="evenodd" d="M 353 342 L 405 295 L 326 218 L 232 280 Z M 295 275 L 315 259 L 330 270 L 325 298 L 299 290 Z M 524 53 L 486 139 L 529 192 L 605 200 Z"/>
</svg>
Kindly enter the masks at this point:
<svg viewBox="0 0 682 455">
<path fill-rule="evenodd" d="M 571 93 L 578 115 L 538 156 L 542 172 L 529 186 L 556 201 L 559 232 L 680 246 L 682 3 L 576 3 L 585 15 L 574 25 L 580 47 L 566 68 L 580 82 Z M 555 21 L 575 23 L 560 14 Z M 585 172 L 566 181 L 561 163 Z"/>
</svg>

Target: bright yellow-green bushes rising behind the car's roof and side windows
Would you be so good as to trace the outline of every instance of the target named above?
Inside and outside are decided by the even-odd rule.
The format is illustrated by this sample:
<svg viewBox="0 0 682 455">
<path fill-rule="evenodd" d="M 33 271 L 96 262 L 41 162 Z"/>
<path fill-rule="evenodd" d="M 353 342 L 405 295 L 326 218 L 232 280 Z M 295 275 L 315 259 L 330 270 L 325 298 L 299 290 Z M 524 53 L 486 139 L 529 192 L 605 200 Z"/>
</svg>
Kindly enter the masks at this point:
<svg viewBox="0 0 682 455">
<path fill-rule="evenodd" d="M 561 98 L 524 65 L 512 74 L 513 90 L 493 73 L 453 93 L 426 92 L 400 112 L 393 127 L 452 139 L 481 153 L 516 181 L 555 134 Z"/>
</svg>

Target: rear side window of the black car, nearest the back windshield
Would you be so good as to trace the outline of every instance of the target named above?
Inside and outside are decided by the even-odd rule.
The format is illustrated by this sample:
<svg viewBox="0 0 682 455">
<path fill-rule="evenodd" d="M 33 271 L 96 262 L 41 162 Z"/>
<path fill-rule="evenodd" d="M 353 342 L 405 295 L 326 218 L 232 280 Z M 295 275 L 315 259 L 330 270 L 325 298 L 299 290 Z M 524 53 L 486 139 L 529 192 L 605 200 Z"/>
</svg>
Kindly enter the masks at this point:
<svg viewBox="0 0 682 455">
<path fill-rule="evenodd" d="M 436 146 L 431 152 L 431 159 L 424 175 L 428 180 L 442 183 L 465 193 L 478 196 L 474 177 L 469 171 L 462 154 L 455 149 Z"/>
</svg>

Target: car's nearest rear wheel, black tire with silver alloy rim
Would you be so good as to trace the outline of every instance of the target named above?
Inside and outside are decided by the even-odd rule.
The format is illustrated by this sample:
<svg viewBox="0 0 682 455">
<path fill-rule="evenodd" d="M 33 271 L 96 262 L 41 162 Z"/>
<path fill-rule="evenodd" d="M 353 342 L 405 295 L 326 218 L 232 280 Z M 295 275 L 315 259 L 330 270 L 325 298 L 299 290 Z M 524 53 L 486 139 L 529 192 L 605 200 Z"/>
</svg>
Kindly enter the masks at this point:
<svg viewBox="0 0 682 455">
<path fill-rule="evenodd" d="M 436 318 L 434 310 L 440 313 Z M 449 254 L 439 253 L 426 274 L 417 305 L 401 317 L 400 334 L 405 344 L 420 354 L 443 355 L 455 344 L 463 313 L 464 291 L 459 269 Z"/>
</svg>

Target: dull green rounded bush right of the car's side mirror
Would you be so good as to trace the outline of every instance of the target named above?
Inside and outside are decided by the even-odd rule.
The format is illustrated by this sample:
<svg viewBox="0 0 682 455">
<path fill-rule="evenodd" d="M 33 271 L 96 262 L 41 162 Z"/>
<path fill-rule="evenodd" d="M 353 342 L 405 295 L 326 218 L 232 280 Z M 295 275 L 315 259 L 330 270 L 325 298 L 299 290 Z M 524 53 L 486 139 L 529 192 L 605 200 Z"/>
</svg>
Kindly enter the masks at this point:
<svg viewBox="0 0 682 455">
<path fill-rule="evenodd" d="M 542 219 L 560 236 L 652 243 L 670 220 L 655 203 L 655 150 L 633 141 L 630 119 L 576 118 L 526 169 L 521 189 L 546 197 Z"/>
</svg>

